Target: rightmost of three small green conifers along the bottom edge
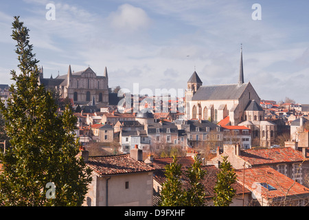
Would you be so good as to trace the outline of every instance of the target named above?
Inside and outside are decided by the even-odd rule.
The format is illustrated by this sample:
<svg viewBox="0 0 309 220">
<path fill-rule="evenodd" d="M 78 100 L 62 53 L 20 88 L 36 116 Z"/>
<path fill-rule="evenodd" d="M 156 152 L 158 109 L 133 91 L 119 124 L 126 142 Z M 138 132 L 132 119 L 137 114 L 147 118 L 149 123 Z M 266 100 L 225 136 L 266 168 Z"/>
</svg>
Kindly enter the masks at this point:
<svg viewBox="0 0 309 220">
<path fill-rule="evenodd" d="M 220 172 L 217 175 L 216 186 L 214 187 L 214 206 L 229 206 L 236 190 L 232 184 L 236 182 L 236 173 L 231 163 L 227 161 L 227 156 L 222 157 Z"/>
</svg>

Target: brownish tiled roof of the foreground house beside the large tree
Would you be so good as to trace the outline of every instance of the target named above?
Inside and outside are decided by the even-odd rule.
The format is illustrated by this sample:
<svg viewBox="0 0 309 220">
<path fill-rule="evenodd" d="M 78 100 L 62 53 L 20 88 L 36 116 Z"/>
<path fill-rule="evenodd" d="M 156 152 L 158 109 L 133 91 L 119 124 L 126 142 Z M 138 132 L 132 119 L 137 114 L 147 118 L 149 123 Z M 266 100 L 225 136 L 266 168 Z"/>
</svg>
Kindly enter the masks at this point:
<svg viewBox="0 0 309 220">
<path fill-rule="evenodd" d="M 89 157 L 86 163 L 98 175 L 123 175 L 155 170 L 129 154 Z"/>
</svg>

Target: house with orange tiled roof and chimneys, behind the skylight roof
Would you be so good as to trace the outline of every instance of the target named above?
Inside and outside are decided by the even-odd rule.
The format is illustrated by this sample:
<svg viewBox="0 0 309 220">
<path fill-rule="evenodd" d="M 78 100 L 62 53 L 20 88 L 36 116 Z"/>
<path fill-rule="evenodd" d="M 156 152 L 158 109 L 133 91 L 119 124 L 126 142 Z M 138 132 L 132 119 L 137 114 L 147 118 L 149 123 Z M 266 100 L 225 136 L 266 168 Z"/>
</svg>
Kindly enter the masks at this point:
<svg viewBox="0 0 309 220">
<path fill-rule="evenodd" d="M 301 151 L 291 147 L 241 150 L 239 144 L 224 145 L 223 153 L 217 151 L 210 162 L 222 161 L 225 155 L 236 169 L 269 166 L 299 184 L 309 185 L 306 181 L 309 174 L 306 148 L 301 148 Z"/>
</svg>

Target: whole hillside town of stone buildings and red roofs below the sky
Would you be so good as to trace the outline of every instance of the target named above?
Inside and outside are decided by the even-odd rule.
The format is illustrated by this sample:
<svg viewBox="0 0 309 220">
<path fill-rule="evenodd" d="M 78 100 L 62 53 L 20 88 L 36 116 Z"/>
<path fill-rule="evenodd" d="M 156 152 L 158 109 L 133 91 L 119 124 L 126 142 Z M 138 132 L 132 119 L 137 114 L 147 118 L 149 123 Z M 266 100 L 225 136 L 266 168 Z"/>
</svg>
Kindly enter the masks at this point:
<svg viewBox="0 0 309 220">
<path fill-rule="evenodd" d="M 93 170 L 84 206 L 158 206 L 173 155 L 183 168 L 201 160 L 207 206 L 224 155 L 237 174 L 231 206 L 308 206 L 309 104 L 261 99 L 244 82 L 242 51 L 231 84 L 203 85 L 198 75 L 183 79 L 183 97 L 148 96 L 109 88 L 106 67 L 101 76 L 69 65 L 56 78 L 40 67 L 39 83 L 58 94 L 58 114 L 69 104 L 77 118 L 79 156 Z M 0 89 L 5 102 L 8 85 Z"/>
</svg>

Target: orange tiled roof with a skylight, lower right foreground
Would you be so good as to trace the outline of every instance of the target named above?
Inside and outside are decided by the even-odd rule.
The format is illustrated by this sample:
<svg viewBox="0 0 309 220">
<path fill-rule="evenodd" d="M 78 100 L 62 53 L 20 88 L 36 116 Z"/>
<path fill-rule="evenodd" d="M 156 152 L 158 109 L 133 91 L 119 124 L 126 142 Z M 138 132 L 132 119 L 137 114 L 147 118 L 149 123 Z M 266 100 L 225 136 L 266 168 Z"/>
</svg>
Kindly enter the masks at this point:
<svg viewBox="0 0 309 220">
<path fill-rule="evenodd" d="M 238 175 L 238 181 L 241 184 L 243 184 L 244 177 L 244 186 L 246 188 L 251 191 L 258 191 L 261 193 L 262 197 L 268 199 L 293 195 L 309 195 L 309 188 L 306 188 L 269 166 L 247 168 L 245 170 L 240 169 L 236 170 L 236 174 Z M 268 190 L 260 185 L 262 183 L 268 184 L 275 189 Z"/>
</svg>

